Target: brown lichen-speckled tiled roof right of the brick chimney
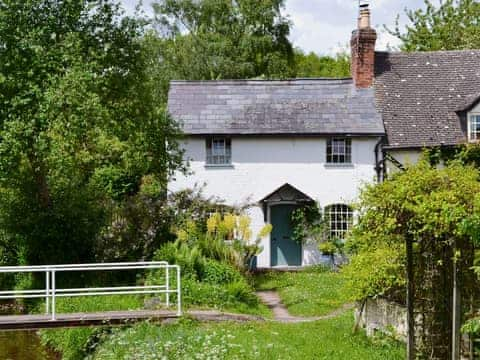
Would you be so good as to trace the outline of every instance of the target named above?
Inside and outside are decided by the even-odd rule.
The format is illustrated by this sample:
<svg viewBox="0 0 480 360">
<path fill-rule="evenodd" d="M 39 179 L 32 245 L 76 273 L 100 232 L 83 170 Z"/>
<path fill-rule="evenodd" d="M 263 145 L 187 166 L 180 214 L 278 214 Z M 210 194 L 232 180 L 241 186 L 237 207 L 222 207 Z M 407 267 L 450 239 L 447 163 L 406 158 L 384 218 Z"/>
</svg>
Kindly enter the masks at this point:
<svg viewBox="0 0 480 360">
<path fill-rule="evenodd" d="M 480 96 L 480 50 L 375 56 L 375 93 L 389 147 L 466 141 L 462 114 Z"/>
</svg>

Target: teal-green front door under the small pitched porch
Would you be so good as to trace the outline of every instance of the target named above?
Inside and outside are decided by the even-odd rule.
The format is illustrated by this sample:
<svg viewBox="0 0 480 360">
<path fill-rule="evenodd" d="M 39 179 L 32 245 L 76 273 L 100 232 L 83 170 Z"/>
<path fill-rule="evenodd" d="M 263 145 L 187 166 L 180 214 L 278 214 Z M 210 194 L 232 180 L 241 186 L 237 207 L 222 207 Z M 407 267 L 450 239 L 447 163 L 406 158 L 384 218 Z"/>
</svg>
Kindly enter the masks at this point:
<svg viewBox="0 0 480 360">
<path fill-rule="evenodd" d="M 271 241 L 272 266 L 302 265 L 302 246 L 292 240 L 292 212 L 295 205 L 270 207 L 270 221 L 273 226 Z"/>
</svg>

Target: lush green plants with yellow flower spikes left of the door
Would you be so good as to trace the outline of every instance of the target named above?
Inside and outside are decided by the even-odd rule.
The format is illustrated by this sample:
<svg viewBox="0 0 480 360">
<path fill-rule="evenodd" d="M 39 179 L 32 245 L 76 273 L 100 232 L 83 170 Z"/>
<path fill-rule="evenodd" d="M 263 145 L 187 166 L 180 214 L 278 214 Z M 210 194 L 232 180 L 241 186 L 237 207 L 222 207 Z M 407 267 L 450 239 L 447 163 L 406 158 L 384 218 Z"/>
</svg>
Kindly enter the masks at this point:
<svg viewBox="0 0 480 360">
<path fill-rule="evenodd" d="M 264 311 L 249 283 L 249 264 L 260 250 L 259 239 L 267 236 L 267 225 L 252 240 L 250 219 L 231 213 L 211 215 L 205 224 L 187 221 L 177 231 L 177 241 L 164 245 L 158 260 L 182 269 L 183 301 L 186 306 L 213 307 L 238 312 Z M 156 274 L 149 281 L 155 281 Z"/>
</svg>

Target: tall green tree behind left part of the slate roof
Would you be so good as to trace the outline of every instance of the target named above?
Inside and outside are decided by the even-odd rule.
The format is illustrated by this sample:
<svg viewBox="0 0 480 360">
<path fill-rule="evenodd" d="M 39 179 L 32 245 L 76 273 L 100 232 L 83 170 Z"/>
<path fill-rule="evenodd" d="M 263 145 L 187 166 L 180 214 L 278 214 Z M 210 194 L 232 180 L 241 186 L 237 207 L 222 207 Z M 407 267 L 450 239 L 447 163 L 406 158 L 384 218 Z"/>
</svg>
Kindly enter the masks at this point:
<svg viewBox="0 0 480 360">
<path fill-rule="evenodd" d="M 172 78 L 214 80 L 293 75 L 283 0 L 160 0 L 158 57 Z"/>
</svg>

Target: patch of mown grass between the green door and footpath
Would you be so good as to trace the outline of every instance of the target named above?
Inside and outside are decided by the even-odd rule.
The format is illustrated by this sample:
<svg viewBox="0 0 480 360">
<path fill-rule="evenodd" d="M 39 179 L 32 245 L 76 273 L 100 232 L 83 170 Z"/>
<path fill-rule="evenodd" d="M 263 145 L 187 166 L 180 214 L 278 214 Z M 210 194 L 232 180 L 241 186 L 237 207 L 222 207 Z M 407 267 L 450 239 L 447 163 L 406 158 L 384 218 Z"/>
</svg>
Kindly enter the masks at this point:
<svg viewBox="0 0 480 360">
<path fill-rule="evenodd" d="M 299 272 L 267 272 L 255 279 L 258 290 L 276 290 L 296 316 L 326 315 L 348 302 L 342 275 L 322 267 Z"/>
</svg>

